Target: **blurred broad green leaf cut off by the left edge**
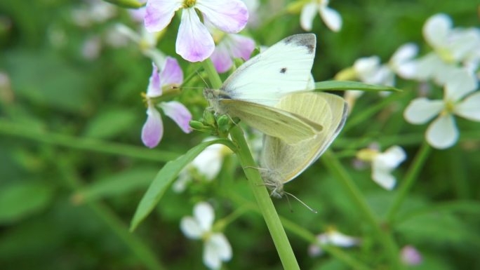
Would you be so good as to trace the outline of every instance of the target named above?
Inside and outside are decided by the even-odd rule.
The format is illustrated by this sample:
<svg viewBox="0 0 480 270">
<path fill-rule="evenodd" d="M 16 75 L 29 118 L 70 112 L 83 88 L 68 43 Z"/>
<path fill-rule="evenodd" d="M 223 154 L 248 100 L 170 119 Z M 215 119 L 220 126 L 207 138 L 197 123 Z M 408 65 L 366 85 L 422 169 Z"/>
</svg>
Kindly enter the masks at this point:
<svg viewBox="0 0 480 270">
<path fill-rule="evenodd" d="M 39 212 L 53 198 L 53 189 L 39 182 L 20 182 L 0 189 L 0 224 Z"/>
</svg>

